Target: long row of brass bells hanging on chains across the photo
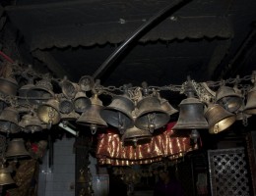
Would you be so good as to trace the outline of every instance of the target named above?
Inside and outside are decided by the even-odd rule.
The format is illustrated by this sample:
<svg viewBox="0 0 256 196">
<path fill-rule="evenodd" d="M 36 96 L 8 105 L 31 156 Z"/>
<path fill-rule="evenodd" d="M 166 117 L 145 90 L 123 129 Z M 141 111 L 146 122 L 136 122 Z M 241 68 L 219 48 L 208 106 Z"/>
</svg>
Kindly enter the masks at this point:
<svg viewBox="0 0 256 196">
<path fill-rule="evenodd" d="M 10 65 L 10 68 L 10 74 L 0 77 L 0 131 L 8 134 L 34 133 L 73 121 L 90 127 L 93 134 L 97 129 L 113 126 L 123 135 L 124 141 L 137 143 L 141 138 L 150 137 L 149 134 L 163 127 L 170 121 L 170 116 L 179 112 L 174 132 L 191 135 L 195 140 L 197 130 L 219 133 L 235 121 L 246 124 L 249 117 L 256 115 L 256 72 L 251 75 L 252 87 L 247 85 L 238 89 L 241 86 L 238 85 L 239 78 L 222 82 L 221 86 L 218 83 L 214 87 L 219 88 L 212 98 L 206 100 L 205 89 L 196 89 L 189 78 L 182 88 L 173 88 L 187 96 L 176 110 L 160 97 L 161 87 L 149 87 L 146 82 L 139 87 L 112 88 L 101 86 L 89 75 L 75 83 L 66 76 L 54 79 L 48 74 L 36 74 L 31 66 L 20 68 L 17 73 L 17 65 Z M 22 82 L 18 82 L 18 78 Z M 171 86 L 162 89 L 172 90 Z M 110 104 L 104 106 L 100 95 L 110 95 Z"/>
</svg>

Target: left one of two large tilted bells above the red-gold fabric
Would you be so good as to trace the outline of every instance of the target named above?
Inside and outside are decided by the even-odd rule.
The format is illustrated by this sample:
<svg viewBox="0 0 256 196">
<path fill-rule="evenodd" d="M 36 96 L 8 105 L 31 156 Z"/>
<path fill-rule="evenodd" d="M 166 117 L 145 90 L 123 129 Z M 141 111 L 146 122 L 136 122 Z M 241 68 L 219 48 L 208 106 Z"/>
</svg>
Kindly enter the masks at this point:
<svg viewBox="0 0 256 196">
<path fill-rule="evenodd" d="M 126 95 L 116 95 L 107 107 L 100 111 L 100 117 L 118 129 L 126 129 L 133 126 L 132 111 L 135 106 Z"/>
</svg>

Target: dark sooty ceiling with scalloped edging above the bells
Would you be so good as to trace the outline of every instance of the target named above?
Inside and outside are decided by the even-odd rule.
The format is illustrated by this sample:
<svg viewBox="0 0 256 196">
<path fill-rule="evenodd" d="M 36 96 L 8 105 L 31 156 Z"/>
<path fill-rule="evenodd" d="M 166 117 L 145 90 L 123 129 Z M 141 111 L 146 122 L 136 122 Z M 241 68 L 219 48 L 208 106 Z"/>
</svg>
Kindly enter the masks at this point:
<svg viewBox="0 0 256 196">
<path fill-rule="evenodd" d="M 2 1 L 19 32 L 20 53 L 38 70 L 79 81 L 160 10 L 178 1 L 16 0 Z M 125 45 L 100 71 L 103 85 L 162 86 L 220 80 L 256 69 L 256 1 L 183 1 L 164 19 Z"/>
</svg>

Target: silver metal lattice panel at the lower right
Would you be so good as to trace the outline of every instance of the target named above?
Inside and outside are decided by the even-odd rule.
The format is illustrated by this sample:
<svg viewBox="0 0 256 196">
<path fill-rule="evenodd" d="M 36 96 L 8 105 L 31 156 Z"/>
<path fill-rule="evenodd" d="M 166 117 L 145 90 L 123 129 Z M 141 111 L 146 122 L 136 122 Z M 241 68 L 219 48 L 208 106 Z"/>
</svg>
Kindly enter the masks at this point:
<svg viewBox="0 0 256 196">
<path fill-rule="evenodd" d="M 209 150 L 212 196 L 250 195 L 244 148 Z"/>
</svg>

